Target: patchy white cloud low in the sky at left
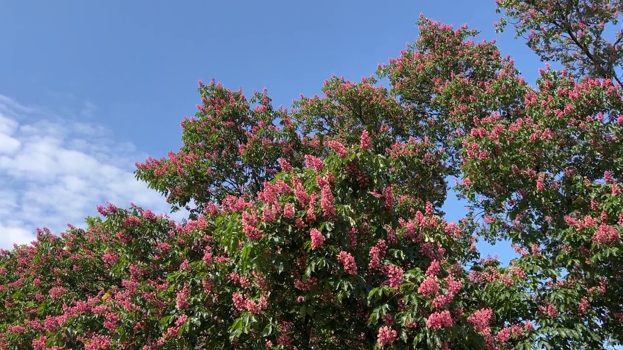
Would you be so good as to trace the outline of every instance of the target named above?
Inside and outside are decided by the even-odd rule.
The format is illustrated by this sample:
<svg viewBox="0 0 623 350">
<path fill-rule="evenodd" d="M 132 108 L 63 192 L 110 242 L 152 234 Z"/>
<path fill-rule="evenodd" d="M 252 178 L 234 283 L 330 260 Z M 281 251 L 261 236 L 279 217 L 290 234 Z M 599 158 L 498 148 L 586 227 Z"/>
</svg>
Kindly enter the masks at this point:
<svg viewBox="0 0 623 350">
<path fill-rule="evenodd" d="M 86 103 L 80 114 L 95 111 Z M 59 234 L 67 224 L 83 226 L 105 202 L 168 212 L 164 198 L 133 175 L 135 161 L 145 158 L 102 125 L 0 95 L 0 248 L 31 242 L 36 227 Z"/>
</svg>

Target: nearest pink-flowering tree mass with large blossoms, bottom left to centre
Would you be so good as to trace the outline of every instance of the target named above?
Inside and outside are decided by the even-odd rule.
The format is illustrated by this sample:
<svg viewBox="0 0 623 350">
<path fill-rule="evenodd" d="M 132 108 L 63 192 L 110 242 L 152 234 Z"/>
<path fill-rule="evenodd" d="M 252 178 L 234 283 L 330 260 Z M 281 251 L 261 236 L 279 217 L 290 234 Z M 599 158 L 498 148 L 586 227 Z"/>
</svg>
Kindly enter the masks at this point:
<svg viewBox="0 0 623 350">
<path fill-rule="evenodd" d="M 254 201 L 227 197 L 186 224 L 108 206 L 87 230 L 42 232 L 36 247 L 3 257 L 7 346 L 479 349 L 530 339 L 509 303 L 524 297 L 523 281 L 474 261 L 469 220 L 445 222 L 414 201 L 425 193 L 396 198 L 388 186 L 400 174 L 391 169 L 426 154 L 435 163 L 432 145 L 397 143 L 384 157 L 367 133 L 360 143 L 307 156 L 303 169 L 282 162 L 289 170 Z M 102 280 L 76 281 L 81 268 Z"/>
</svg>

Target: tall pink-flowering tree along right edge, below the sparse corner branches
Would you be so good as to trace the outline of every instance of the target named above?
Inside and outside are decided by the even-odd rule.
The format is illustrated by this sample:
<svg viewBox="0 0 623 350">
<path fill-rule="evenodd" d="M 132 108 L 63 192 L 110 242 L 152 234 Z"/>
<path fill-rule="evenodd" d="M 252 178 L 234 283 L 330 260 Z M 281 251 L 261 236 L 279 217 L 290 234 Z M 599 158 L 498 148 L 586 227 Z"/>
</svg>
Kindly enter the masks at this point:
<svg viewBox="0 0 623 350">
<path fill-rule="evenodd" d="M 530 272 L 548 315 L 543 334 L 556 346 L 576 338 L 599 348 L 623 334 L 621 87 L 552 70 L 538 86 L 515 120 L 492 115 L 464 139 L 462 187 L 485 215 L 483 234 L 521 254 L 513 265 Z"/>
</svg>

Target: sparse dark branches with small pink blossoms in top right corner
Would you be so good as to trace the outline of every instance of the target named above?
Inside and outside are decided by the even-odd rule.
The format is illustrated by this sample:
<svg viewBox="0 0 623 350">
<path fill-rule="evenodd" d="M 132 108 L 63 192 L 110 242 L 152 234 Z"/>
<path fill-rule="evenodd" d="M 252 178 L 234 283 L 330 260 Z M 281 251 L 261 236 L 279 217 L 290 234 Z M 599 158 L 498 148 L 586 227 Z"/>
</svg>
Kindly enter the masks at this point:
<svg viewBox="0 0 623 350">
<path fill-rule="evenodd" d="M 609 78 L 621 84 L 623 30 L 616 28 L 621 0 L 496 0 L 528 47 L 545 61 L 559 61 L 576 78 Z"/>
</svg>

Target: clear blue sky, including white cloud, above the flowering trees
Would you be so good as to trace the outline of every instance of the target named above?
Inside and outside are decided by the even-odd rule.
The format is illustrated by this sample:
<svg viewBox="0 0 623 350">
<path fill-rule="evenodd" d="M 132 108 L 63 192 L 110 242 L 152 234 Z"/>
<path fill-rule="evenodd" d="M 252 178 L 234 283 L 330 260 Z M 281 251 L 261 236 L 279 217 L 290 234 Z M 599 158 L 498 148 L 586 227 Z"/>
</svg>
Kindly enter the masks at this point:
<svg viewBox="0 0 623 350">
<path fill-rule="evenodd" d="M 80 224 L 113 201 L 168 209 L 133 180 L 135 161 L 181 145 L 197 80 L 275 105 L 358 80 L 417 38 L 426 17 L 497 39 L 528 82 L 543 67 L 481 1 L 0 1 L 0 247 Z M 463 204 L 449 202 L 449 219 Z M 486 248 L 510 258 L 508 247 Z"/>
</svg>

